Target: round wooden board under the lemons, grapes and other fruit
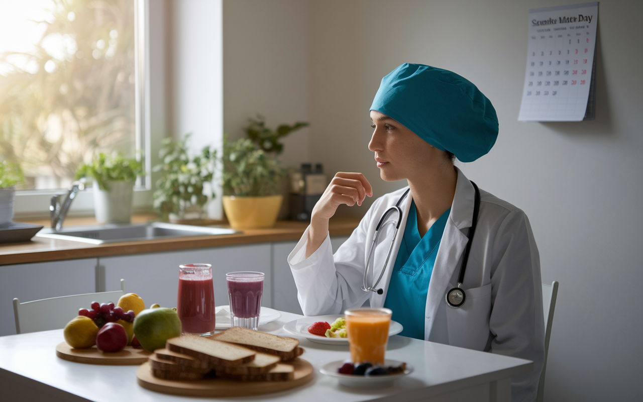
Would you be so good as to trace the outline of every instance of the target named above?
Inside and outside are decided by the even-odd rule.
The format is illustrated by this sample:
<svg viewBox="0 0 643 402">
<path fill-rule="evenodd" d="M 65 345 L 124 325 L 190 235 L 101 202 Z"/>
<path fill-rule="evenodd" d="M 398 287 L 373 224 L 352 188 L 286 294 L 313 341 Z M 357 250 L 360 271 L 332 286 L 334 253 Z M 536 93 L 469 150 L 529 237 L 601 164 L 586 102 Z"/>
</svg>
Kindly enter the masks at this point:
<svg viewBox="0 0 643 402">
<path fill-rule="evenodd" d="M 75 363 L 102 364 L 111 366 L 140 365 L 147 361 L 150 352 L 145 349 L 134 349 L 131 346 L 125 347 L 120 352 L 101 352 L 96 346 L 87 349 L 75 349 L 60 342 L 56 346 L 56 356 L 61 359 L 74 361 Z"/>
</svg>

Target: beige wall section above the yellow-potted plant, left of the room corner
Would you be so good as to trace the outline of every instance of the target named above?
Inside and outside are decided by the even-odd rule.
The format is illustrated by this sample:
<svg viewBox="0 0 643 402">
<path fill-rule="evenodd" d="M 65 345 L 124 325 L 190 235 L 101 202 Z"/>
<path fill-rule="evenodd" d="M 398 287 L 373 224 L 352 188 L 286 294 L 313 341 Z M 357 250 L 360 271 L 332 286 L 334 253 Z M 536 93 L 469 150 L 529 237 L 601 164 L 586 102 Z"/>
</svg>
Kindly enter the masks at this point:
<svg viewBox="0 0 643 402">
<path fill-rule="evenodd" d="M 308 12 L 301 0 L 223 2 L 224 131 L 231 140 L 245 135 L 257 113 L 269 127 L 309 121 Z M 308 131 L 284 138 L 284 165 L 311 161 Z"/>
</svg>

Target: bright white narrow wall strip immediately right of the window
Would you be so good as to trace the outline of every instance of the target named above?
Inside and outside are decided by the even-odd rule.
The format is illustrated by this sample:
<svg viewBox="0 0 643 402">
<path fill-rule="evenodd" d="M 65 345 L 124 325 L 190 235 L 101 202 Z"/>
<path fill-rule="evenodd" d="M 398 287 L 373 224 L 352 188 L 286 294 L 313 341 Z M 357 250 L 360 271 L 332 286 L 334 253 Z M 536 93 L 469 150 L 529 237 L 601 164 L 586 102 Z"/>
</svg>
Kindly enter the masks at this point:
<svg viewBox="0 0 643 402">
<path fill-rule="evenodd" d="M 221 0 L 168 2 L 171 127 L 175 138 L 192 133 L 193 154 L 221 148 L 223 138 Z M 221 191 L 208 203 L 208 217 L 221 219 Z"/>
</svg>

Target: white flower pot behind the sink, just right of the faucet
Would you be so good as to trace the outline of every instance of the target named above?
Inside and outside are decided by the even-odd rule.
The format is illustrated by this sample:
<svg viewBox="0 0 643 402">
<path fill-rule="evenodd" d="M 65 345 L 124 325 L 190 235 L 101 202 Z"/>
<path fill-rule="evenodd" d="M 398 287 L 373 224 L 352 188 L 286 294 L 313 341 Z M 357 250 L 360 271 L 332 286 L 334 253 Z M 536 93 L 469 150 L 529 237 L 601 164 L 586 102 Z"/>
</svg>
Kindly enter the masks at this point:
<svg viewBox="0 0 643 402">
<path fill-rule="evenodd" d="M 129 223 L 132 218 L 133 181 L 108 181 L 107 190 L 94 187 L 94 214 L 98 223 Z"/>
</svg>

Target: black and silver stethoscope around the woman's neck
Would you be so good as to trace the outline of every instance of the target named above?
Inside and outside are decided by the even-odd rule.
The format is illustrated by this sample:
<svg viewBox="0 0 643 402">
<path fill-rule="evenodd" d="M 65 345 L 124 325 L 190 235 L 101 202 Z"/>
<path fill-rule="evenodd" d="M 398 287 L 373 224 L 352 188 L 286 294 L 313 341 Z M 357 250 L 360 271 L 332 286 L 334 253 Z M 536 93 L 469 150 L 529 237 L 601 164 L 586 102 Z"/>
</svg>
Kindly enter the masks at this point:
<svg viewBox="0 0 643 402">
<path fill-rule="evenodd" d="M 453 288 L 449 290 L 446 294 L 446 302 L 450 307 L 457 308 L 460 307 L 464 304 L 464 301 L 466 300 L 467 296 L 466 293 L 464 293 L 464 289 L 462 289 L 462 281 L 464 280 L 464 272 L 467 269 L 467 260 L 469 260 L 469 251 L 471 251 L 471 243 L 473 242 L 473 234 L 476 231 L 476 225 L 478 224 L 478 212 L 480 212 L 480 190 L 478 189 L 478 186 L 476 183 L 473 183 L 471 181 L 471 184 L 473 185 L 473 188 L 475 190 L 475 201 L 473 205 L 473 223 L 471 223 L 471 228 L 469 229 L 469 233 L 467 233 L 467 246 L 464 249 L 464 258 L 462 259 L 462 265 L 460 266 L 460 274 L 458 275 L 458 286 L 456 288 Z M 379 284 L 379 281 L 382 279 L 384 276 L 384 270 L 386 268 L 386 265 L 388 264 L 388 259 L 391 257 L 391 252 L 393 251 L 393 245 L 395 243 L 395 237 L 397 237 L 397 230 L 399 230 L 400 224 L 402 223 L 402 209 L 400 208 L 400 204 L 406 198 L 406 195 L 408 194 L 410 188 L 407 188 L 404 194 L 400 197 L 400 199 L 397 201 L 397 204 L 395 206 L 392 206 L 391 208 L 388 208 L 384 215 L 382 215 L 381 219 L 379 219 L 379 223 L 377 223 L 377 226 L 375 228 L 375 234 L 373 235 L 373 242 L 370 246 L 370 251 L 368 251 L 368 258 L 366 262 L 366 269 L 364 270 L 364 284 L 361 287 L 361 289 L 365 292 L 376 292 L 378 295 L 381 295 L 384 293 L 383 289 L 377 289 L 377 284 Z M 397 223 L 395 221 L 388 221 L 384 222 L 388 215 L 392 214 L 393 212 L 397 212 Z M 379 230 L 383 228 L 383 226 L 386 226 L 387 224 L 394 224 L 395 225 L 395 232 L 393 233 L 393 239 L 391 241 L 391 245 L 388 247 L 388 254 L 386 255 L 386 261 L 384 262 L 384 266 L 382 270 L 379 273 L 379 277 L 377 278 L 377 281 L 372 287 L 368 287 L 366 284 L 366 278 L 368 274 L 368 265 L 370 264 L 370 259 L 373 255 L 373 252 L 375 250 L 375 244 L 377 242 L 377 235 L 379 234 Z M 375 263 L 373 264 L 373 271 L 375 272 Z"/>
</svg>

